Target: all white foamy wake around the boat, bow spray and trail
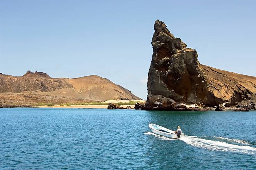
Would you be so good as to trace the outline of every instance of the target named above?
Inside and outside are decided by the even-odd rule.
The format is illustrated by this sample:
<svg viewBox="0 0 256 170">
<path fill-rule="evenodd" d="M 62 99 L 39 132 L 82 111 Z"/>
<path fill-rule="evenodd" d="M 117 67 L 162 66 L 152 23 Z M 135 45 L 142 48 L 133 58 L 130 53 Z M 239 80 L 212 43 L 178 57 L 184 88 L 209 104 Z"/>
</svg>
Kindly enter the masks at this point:
<svg viewBox="0 0 256 170">
<path fill-rule="evenodd" d="M 152 132 L 147 132 L 144 133 L 147 135 L 155 135 L 156 137 L 160 138 L 161 140 L 174 140 L 170 139 L 168 137 L 156 135 Z M 225 137 L 214 137 L 214 138 L 219 138 L 221 140 L 226 140 L 230 142 L 236 142 L 237 144 L 230 144 L 226 142 L 221 142 L 221 141 L 213 141 L 213 140 L 208 140 L 208 139 L 203 139 L 203 138 L 198 138 L 197 136 L 184 136 L 180 138 L 181 141 L 185 142 L 186 144 L 201 148 L 201 149 L 206 149 L 206 150 L 211 150 L 211 151 L 227 151 L 227 152 L 240 152 L 240 153 L 247 153 L 247 154 L 256 154 L 256 147 L 253 147 L 253 145 L 249 144 L 247 141 L 244 140 L 237 140 L 237 139 L 229 139 Z M 240 144 L 240 145 L 238 145 Z M 241 145 L 243 144 L 243 145 Z M 255 145 L 254 145 L 255 146 Z"/>
</svg>

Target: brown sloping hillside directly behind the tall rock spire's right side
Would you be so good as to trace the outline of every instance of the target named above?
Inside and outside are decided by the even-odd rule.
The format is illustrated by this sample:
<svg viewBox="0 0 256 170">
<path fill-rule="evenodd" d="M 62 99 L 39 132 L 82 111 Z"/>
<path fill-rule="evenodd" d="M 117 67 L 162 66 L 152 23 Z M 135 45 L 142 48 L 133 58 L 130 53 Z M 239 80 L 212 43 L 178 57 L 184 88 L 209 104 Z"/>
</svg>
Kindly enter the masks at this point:
<svg viewBox="0 0 256 170">
<path fill-rule="evenodd" d="M 227 102 L 234 106 L 256 93 L 256 77 L 215 69 L 202 64 L 200 67 L 208 83 L 205 105 L 217 106 Z"/>
</svg>

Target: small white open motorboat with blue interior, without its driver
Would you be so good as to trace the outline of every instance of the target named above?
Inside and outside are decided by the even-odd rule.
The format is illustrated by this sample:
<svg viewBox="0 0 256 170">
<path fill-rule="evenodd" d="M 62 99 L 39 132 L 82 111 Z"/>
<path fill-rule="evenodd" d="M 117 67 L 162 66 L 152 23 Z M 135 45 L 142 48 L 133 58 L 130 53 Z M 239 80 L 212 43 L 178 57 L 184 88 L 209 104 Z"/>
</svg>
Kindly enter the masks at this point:
<svg viewBox="0 0 256 170">
<path fill-rule="evenodd" d="M 173 139 L 179 139 L 184 136 L 184 133 L 180 134 L 180 137 L 178 138 L 177 134 L 175 131 L 172 131 L 170 129 L 167 129 L 165 127 L 156 125 L 156 124 L 149 124 L 149 127 L 151 128 L 151 131 L 157 135 L 173 138 Z"/>
</svg>

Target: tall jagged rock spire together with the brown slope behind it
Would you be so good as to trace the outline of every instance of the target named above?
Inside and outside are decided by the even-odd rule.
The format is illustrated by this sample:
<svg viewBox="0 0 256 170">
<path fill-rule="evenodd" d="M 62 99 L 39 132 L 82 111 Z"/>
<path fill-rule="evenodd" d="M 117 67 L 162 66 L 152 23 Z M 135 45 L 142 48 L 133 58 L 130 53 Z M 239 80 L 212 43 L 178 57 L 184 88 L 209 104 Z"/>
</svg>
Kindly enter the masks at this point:
<svg viewBox="0 0 256 170">
<path fill-rule="evenodd" d="M 153 56 L 148 74 L 145 109 L 171 110 L 184 105 L 236 105 L 256 92 L 256 77 L 200 65 L 197 52 L 174 37 L 157 20 L 152 38 Z"/>
</svg>

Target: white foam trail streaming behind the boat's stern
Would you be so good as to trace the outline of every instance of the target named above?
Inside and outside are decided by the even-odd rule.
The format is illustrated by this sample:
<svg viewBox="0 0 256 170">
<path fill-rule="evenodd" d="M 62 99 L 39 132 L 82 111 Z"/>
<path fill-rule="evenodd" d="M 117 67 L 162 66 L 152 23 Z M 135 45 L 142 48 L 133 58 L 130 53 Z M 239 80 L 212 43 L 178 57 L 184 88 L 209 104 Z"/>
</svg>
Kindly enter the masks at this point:
<svg viewBox="0 0 256 170">
<path fill-rule="evenodd" d="M 184 136 L 180 138 L 180 140 L 184 141 L 189 145 L 199 147 L 202 149 L 207 149 L 207 150 L 242 152 L 242 153 L 250 153 L 250 154 L 256 153 L 256 147 L 251 147 L 251 146 L 239 146 L 239 145 L 229 144 L 226 142 L 211 141 L 211 140 L 195 138 L 191 136 Z"/>
</svg>

